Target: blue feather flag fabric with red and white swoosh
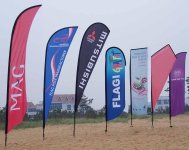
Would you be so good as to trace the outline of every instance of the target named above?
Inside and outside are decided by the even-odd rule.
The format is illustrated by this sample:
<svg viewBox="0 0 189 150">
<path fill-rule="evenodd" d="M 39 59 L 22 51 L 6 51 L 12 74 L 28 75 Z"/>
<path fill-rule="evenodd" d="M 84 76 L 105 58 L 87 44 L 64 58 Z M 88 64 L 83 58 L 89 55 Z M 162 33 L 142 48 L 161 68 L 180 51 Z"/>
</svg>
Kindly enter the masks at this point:
<svg viewBox="0 0 189 150">
<path fill-rule="evenodd" d="M 68 27 L 56 31 L 49 39 L 46 47 L 44 73 L 44 110 L 43 127 L 48 118 L 52 98 L 58 78 L 78 27 Z"/>
</svg>

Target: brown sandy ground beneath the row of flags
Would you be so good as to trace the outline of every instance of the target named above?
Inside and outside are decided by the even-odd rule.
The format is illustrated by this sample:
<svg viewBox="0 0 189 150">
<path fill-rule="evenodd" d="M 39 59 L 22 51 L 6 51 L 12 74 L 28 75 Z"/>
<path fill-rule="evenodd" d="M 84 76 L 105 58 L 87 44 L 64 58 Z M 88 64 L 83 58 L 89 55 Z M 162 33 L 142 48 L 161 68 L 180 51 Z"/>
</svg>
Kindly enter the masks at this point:
<svg viewBox="0 0 189 150">
<path fill-rule="evenodd" d="M 13 130 L 4 147 L 4 132 L 0 131 L 0 150 L 189 150 L 189 116 L 156 119 L 151 128 L 149 119 L 130 123 L 77 124 L 76 136 L 72 125 L 47 126 L 46 139 L 42 129 Z"/>
</svg>

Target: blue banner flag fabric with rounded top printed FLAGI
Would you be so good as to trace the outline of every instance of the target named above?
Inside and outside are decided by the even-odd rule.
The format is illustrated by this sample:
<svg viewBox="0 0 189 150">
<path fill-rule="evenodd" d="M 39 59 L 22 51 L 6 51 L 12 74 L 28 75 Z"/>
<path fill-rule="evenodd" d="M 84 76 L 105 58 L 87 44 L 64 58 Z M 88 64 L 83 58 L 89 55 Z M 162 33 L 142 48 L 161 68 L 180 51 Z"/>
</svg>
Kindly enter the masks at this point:
<svg viewBox="0 0 189 150">
<path fill-rule="evenodd" d="M 105 62 L 106 120 L 122 114 L 125 108 L 125 56 L 117 47 L 106 51 Z"/>
</svg>

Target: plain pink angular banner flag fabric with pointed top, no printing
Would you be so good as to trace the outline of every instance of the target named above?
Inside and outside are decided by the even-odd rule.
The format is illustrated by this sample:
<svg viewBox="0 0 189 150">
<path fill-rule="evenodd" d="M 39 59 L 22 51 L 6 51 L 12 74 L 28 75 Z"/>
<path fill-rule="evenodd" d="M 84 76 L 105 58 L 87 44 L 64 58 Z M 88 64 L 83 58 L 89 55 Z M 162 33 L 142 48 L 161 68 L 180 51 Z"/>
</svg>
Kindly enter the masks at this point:
<svg viewBox="0 0 189 150">
<path fill-rule="evenodd" d="M 152 108 L 154 109 L 161 91 L 176 61 L 170 45 L 166 45 L 151 57 Z"/>
</svg>

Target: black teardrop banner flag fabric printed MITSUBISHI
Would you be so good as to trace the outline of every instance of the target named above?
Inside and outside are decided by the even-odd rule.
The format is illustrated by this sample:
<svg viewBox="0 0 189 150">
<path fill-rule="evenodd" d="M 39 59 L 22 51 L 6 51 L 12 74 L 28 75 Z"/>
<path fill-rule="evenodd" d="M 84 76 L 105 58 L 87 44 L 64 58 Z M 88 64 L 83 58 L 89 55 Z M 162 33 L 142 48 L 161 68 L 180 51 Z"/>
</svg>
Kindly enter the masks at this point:
<svg viewBox="0 0 189 150">
<path fill-rule="evenodd" d="M 109 32 L 106 25 L 94 23 L 83 36 L 77 66 L 75 112 Z"/>
</svg>

